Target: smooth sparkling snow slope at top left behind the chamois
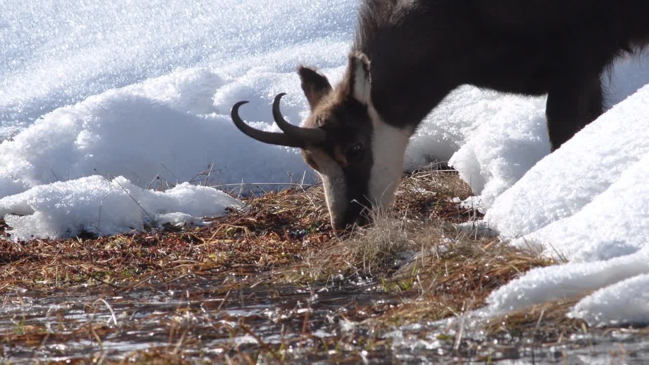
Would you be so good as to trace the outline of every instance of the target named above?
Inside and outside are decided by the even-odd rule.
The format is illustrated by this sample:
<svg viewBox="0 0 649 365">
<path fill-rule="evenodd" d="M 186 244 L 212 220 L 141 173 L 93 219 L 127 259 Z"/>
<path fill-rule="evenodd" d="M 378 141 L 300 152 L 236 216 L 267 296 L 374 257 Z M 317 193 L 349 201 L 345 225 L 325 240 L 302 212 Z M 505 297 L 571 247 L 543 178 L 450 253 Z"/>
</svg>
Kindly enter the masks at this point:
<svg viewBox="0 0 649 365">
<path fill-rule="evenodd" d="M 293 71 L 296 58 L 341 64 L 355 8 L 346 0 L 3 2 L 0 140 L 58 107 L 179 67 L 240 76 Z"/>
</svg>

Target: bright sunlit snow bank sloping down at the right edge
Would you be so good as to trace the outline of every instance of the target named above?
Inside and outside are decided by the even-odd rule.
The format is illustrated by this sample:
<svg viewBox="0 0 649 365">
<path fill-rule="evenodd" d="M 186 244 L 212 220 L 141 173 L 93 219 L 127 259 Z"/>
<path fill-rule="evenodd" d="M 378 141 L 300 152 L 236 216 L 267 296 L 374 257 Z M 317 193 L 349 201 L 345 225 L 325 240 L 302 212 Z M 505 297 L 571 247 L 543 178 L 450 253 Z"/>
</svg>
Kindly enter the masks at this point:
<svg viewBox="0 0 649 365">
<path fill-rule="evenodd" d="M 502 238 L 569 263 L 532 270 L 499 288 L 487 300 L 493 312 L 597 290 L 573 316 L 591 324 L 649 321 L 646 301 L 635 299 L 639 292 L 624 295 L 649 273 L 648 130 L 649 85 L 496 198 L 484 219 Z"/>
</svg>

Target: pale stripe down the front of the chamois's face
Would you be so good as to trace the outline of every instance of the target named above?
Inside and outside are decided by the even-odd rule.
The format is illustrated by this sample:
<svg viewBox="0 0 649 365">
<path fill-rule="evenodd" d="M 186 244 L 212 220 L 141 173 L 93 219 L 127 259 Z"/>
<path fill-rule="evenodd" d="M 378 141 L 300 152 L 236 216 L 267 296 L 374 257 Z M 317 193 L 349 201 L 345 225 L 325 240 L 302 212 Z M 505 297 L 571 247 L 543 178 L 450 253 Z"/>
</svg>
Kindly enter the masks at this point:
<svg viewBox="0 0 649 365">
<path fill-rule="evenodd" d="M 334 227 L 340 227 L 343 224 L 345 212 L 349 205 L 345 173 L 336 160 L 326 153 L 313 152 L 313 159 L 316 161 L 319 170 L 316 172 L 323 181 L 324 199 L 329 209 L 331 224 Z"/>
</svg>

